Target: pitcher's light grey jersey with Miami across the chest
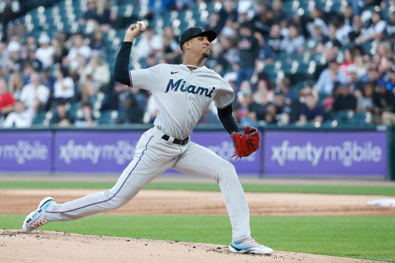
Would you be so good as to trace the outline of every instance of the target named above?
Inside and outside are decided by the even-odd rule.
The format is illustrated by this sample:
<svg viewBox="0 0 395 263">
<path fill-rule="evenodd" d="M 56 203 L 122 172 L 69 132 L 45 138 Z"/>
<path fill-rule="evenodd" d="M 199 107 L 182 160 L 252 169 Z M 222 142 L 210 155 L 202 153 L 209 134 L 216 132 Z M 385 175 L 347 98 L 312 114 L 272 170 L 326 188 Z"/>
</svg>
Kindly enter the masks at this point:
<svg viewBox="0 0 395 263">
<path fill-rule="evenodd" d="M 158 107 L 154 125 L 178 139 L 192 133 L 213 100 L 217 108 L 224 108 L 235 99 L 229 83 L 204 66 L 191 71 L 183 64 L 159 64 L 144 70 L 131 70 L 129 77 L 132 87 L 153 93 Z"/>
</svg>

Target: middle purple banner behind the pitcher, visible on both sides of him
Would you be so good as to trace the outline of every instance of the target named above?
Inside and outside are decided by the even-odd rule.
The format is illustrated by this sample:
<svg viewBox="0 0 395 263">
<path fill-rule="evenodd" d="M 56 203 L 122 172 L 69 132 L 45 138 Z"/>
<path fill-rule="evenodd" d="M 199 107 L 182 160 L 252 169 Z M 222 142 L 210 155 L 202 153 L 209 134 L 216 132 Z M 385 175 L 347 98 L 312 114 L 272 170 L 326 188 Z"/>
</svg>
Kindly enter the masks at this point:
<svg viewBox="0 0 395 263">
<path fill-rule="evenodd" d="M 132 160 L 142 134 L 143 131 L 57 131 L 55 171 L 121 173 Z M 213 150 L 228 161 L 231 161 L 230 156 L 235 152 L 231 137 L 225 131 L 197 131 L 193 133 L 192 141 Z M 240 174 L 258 174 L 261 169 L 260 154 L 258 150 L 232 163 Z"/>
</svg>

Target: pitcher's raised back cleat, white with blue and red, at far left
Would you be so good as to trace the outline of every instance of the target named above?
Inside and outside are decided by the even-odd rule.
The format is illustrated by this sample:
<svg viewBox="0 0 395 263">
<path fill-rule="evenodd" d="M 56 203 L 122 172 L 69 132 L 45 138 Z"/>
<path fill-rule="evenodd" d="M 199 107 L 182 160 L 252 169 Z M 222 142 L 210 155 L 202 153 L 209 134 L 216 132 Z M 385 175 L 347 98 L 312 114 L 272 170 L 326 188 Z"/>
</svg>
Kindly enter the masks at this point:
<svg viewBox="0 0 395 263">
<path fill-rule="evenodd" d="M 22 231 L 24 233 L 30 233 L 37 227 L 48 223 L 45 216 L 45 210 L 52 202 L 55 202 L 52 197 L 45 197 L 41 200 L 39 207 L 35 211 L 30 213 L 25 218 L 25 221 L 23 221 Z"/>
</svg>

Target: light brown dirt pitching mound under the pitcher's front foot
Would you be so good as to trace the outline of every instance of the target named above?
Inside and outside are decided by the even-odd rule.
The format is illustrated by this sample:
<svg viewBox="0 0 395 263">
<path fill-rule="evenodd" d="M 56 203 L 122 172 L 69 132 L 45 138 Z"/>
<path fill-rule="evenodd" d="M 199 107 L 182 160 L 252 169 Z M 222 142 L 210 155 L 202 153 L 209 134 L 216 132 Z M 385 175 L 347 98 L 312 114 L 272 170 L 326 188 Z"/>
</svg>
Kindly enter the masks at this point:
<svg viewBox="0 0 395 263">
<path fill-rule="evenodd" d="M 275 251 L 271 256 L 234 254 L 227 246 L 152 239 L 0 230 L 0 262 L 304 262 L 375 261 Z"/>
</svg>

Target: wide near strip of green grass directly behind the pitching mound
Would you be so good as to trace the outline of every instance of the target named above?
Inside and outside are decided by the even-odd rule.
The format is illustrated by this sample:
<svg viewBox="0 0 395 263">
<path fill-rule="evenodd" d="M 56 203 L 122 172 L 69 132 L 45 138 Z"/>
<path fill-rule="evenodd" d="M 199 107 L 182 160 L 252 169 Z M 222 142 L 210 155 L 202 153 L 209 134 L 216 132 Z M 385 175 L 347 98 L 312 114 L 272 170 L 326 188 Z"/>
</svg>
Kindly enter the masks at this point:
<svg viewBox="0 0 395 263">
<path fill-rule="evenodd" d="M 24 215 L 1 215 L 1 228 L 19 229 Z M 229 245 L 227 216 L 94 215 L 54 222 L 42 230 Z M 252 216 L 253 237 L 275 250 L 395 262 L 395 217 Z"/>
</svg>

